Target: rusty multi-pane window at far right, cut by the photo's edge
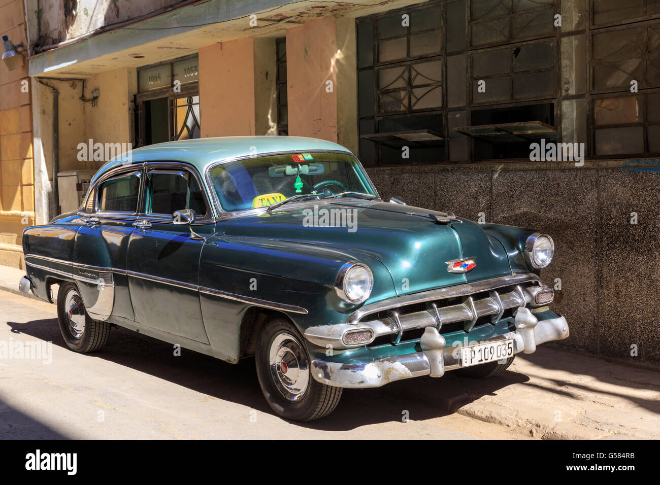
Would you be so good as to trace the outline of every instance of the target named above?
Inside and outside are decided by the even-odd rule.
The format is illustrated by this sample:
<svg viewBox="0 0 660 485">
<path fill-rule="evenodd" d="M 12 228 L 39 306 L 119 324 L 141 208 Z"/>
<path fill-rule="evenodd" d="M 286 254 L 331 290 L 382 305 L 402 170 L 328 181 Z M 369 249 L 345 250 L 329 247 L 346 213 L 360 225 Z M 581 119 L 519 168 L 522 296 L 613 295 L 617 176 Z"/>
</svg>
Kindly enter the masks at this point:
<svg viewBox="0 0 660 485">
<path fill-rule="evenodd" d="M 593 0 L 591 6 L 591 152 L 660 154 L 660 20 L 653 18 L 660 2 Z"/>
</svg>

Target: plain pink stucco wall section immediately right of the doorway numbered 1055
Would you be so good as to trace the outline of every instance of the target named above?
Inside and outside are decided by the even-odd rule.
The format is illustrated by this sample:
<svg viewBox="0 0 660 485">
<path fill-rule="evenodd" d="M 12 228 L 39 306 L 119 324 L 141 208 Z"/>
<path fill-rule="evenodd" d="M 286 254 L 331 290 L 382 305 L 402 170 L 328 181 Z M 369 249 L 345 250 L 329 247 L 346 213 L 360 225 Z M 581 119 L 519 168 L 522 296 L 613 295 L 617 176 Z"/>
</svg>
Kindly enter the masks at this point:
<svg viewBox="0 0 660 485">
<path fill-rule="evenodd" d="M 253 38 L 199 49 L 199 104 L 203 138 L 255 134 Z"/>
</svg>

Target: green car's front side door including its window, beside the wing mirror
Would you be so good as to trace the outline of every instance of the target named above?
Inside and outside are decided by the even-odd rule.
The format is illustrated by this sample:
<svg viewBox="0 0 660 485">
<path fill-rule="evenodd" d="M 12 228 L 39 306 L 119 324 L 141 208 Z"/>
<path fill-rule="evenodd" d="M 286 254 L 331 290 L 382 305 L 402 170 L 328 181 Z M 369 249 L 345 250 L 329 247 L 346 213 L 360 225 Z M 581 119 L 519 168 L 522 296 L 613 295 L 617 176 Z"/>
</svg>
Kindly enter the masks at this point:
<svg viewBox="0 0 660 485">
<path fill-rule="evenodd" d="M 201 181 L 185 164 L 151 164 L 145 197 L 128 250 L 135 320 L 197 342 L 209 343 L 199 306 L 199 255 L 215 223 Z M 174 212 L 194 211 L 192 224 L 175 224 Z"/>
</svg>

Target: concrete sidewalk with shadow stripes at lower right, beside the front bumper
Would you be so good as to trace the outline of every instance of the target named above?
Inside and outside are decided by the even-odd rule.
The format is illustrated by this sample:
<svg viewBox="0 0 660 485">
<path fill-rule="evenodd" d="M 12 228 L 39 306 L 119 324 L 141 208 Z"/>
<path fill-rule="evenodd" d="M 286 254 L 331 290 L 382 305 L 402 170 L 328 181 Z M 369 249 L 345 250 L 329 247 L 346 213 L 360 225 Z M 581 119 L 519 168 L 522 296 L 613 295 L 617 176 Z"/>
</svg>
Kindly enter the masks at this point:
<svg viewBox="0 0 660 485">
<path fill-rule="evenodd" d="M 509 372 L 525 379 L 483 395 L 477 387 L 456 411 L 542 439 L 660 438 L 656 370 L 545 346 L 519 354 Z"/>
</svg>

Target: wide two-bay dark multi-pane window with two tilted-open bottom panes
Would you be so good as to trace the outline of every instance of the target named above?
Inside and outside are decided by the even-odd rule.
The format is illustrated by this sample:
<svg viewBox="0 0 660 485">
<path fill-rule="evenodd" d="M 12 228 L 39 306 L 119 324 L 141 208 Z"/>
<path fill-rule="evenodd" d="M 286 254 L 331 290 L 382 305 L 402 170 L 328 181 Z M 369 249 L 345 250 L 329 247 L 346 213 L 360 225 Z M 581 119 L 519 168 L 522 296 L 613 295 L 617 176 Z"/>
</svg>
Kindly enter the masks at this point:
<svg viewBox="0 0 660 485">
<path fill-rule="evenodd" d="M 360 158 L 529 158 L 531 140 L 556 139 L 557 9 L 555 0 L 448 0 L 358 18 Z M 480 22 L 502 35 L 480 34 Z"/>
</svg>

